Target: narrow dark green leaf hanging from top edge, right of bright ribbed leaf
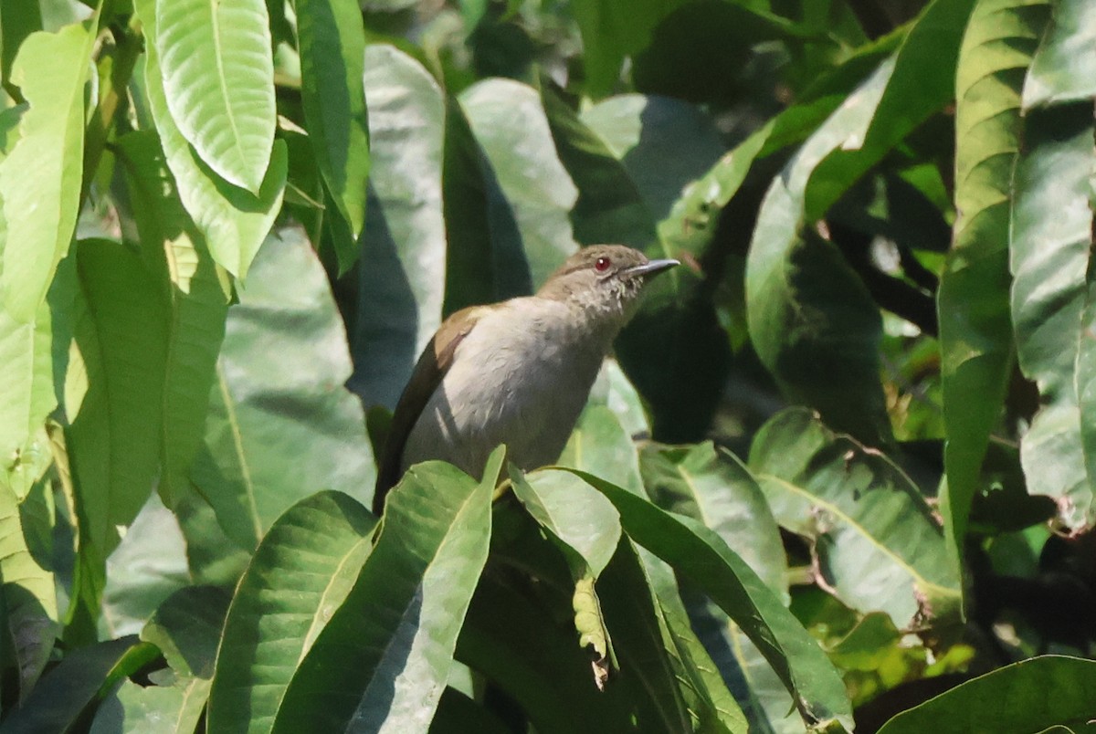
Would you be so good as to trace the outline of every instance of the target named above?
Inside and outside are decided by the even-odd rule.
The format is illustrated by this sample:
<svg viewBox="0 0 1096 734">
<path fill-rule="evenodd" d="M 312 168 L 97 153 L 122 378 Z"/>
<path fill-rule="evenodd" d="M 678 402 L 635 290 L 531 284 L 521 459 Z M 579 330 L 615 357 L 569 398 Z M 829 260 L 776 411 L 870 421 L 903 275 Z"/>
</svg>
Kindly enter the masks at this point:
<svg viewBox="0 0 1096 734">
<path fill-rule="evenodd" d="M 355 0 L 296 0 L 300 98 L 308 139 L 339 214 L 357 238 L 365 225 L 369 121 L 362 76 L 362 11 Z M 345 269 L 345 267 L 343 267 Z"/>
</svg>

